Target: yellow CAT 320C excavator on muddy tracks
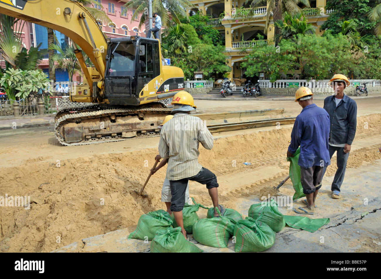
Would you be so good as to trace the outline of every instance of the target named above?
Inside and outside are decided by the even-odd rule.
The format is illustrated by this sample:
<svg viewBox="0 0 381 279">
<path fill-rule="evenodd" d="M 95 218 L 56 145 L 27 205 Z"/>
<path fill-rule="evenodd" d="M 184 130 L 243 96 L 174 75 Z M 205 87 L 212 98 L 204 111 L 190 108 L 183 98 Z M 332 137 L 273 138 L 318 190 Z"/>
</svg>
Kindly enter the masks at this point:
<svg viewBox="0 0 381 279">
<path fill-rule="evenodd" d="M 55 134 L 62 145 L 160 133 L 160 120 L 171 109 L 158 101 L 184 90 L 184 73 L 162 65 L 158 39 L 107 38 L 97 20 L 75 0 L 0 0 L 0 13 L 57 30 L 81 48 L 74 52 L 85 81 L 71 86 L 69 99 L 88 105 L 56 114 Z M 82 51 L 94 67 L 86 65 Z"/>
</svg>

